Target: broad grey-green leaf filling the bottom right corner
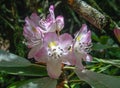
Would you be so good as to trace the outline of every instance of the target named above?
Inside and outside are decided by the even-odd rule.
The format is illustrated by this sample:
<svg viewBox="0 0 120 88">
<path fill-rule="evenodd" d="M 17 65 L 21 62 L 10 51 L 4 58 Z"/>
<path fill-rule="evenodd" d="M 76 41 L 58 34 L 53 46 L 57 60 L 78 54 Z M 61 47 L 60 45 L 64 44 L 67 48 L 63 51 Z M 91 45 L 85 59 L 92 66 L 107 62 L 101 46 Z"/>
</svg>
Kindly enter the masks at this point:
<svg viewBox="0 0 120 88">
<path fill-rule="evenodd" d="M 75 69 L 77 76 L 86 81 L 94 88 L 118 88 L 120 87 L 120 77 L 109 76 L 89 70 Z"/>
</svg>

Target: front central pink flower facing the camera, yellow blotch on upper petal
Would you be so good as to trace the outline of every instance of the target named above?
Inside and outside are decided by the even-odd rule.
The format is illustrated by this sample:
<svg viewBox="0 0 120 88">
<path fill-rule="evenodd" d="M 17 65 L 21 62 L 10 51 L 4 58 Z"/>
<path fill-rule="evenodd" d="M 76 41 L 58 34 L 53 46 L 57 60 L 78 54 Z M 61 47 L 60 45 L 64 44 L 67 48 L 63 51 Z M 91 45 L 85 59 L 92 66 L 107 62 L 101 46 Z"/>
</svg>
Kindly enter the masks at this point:
<svg viewBox="0 0 120 88">
<path fill-rule="evenodd" d="M 48 75 L 51 78 L 58 78 L 61 74 L 62 63 L 73 64 L 70 47 L 73 38 L 65 33 L 57 36 L 54 32 L 45 34 L 44 47 L 42 47 L 34 56 L 36 61 L 47 64 Z M 73 61 L 71 63 L 71 61 Z"/>
</svg>

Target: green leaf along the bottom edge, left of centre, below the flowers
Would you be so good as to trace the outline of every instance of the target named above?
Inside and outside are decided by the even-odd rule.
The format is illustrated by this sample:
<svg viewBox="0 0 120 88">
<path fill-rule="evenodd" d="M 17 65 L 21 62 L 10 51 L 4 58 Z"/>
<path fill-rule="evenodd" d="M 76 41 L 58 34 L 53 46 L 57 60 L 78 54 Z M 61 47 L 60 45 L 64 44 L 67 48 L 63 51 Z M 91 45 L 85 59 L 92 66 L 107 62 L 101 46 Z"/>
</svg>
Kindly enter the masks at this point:
<svg viewBox="0 0 120 88">
<path fill-rule="evenodd" d="M 8 88 L 56 88 L 57 80 L 48 77 L 16 82 Z"/>
</svg>

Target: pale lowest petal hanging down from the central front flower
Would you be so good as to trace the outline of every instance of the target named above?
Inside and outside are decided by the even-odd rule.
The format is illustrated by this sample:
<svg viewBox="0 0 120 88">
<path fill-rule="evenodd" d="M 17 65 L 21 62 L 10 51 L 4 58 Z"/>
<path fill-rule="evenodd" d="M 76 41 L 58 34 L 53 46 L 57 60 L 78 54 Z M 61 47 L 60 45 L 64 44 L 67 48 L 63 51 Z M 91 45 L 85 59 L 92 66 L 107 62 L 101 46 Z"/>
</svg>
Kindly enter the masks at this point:
<svg viewBox="0 0 120 88">
<path fill-rule="evenodd" d="M 51 59 L 48 63 L 47 63 L 47 71 L 48 71 L 48 75 L 51 78 L 54 79 L 58 79 L 60 74 L 62 73 L 61 71 L 61 67 L 62 64 L 56 62 L 54 59 Z"/>
</svg>

